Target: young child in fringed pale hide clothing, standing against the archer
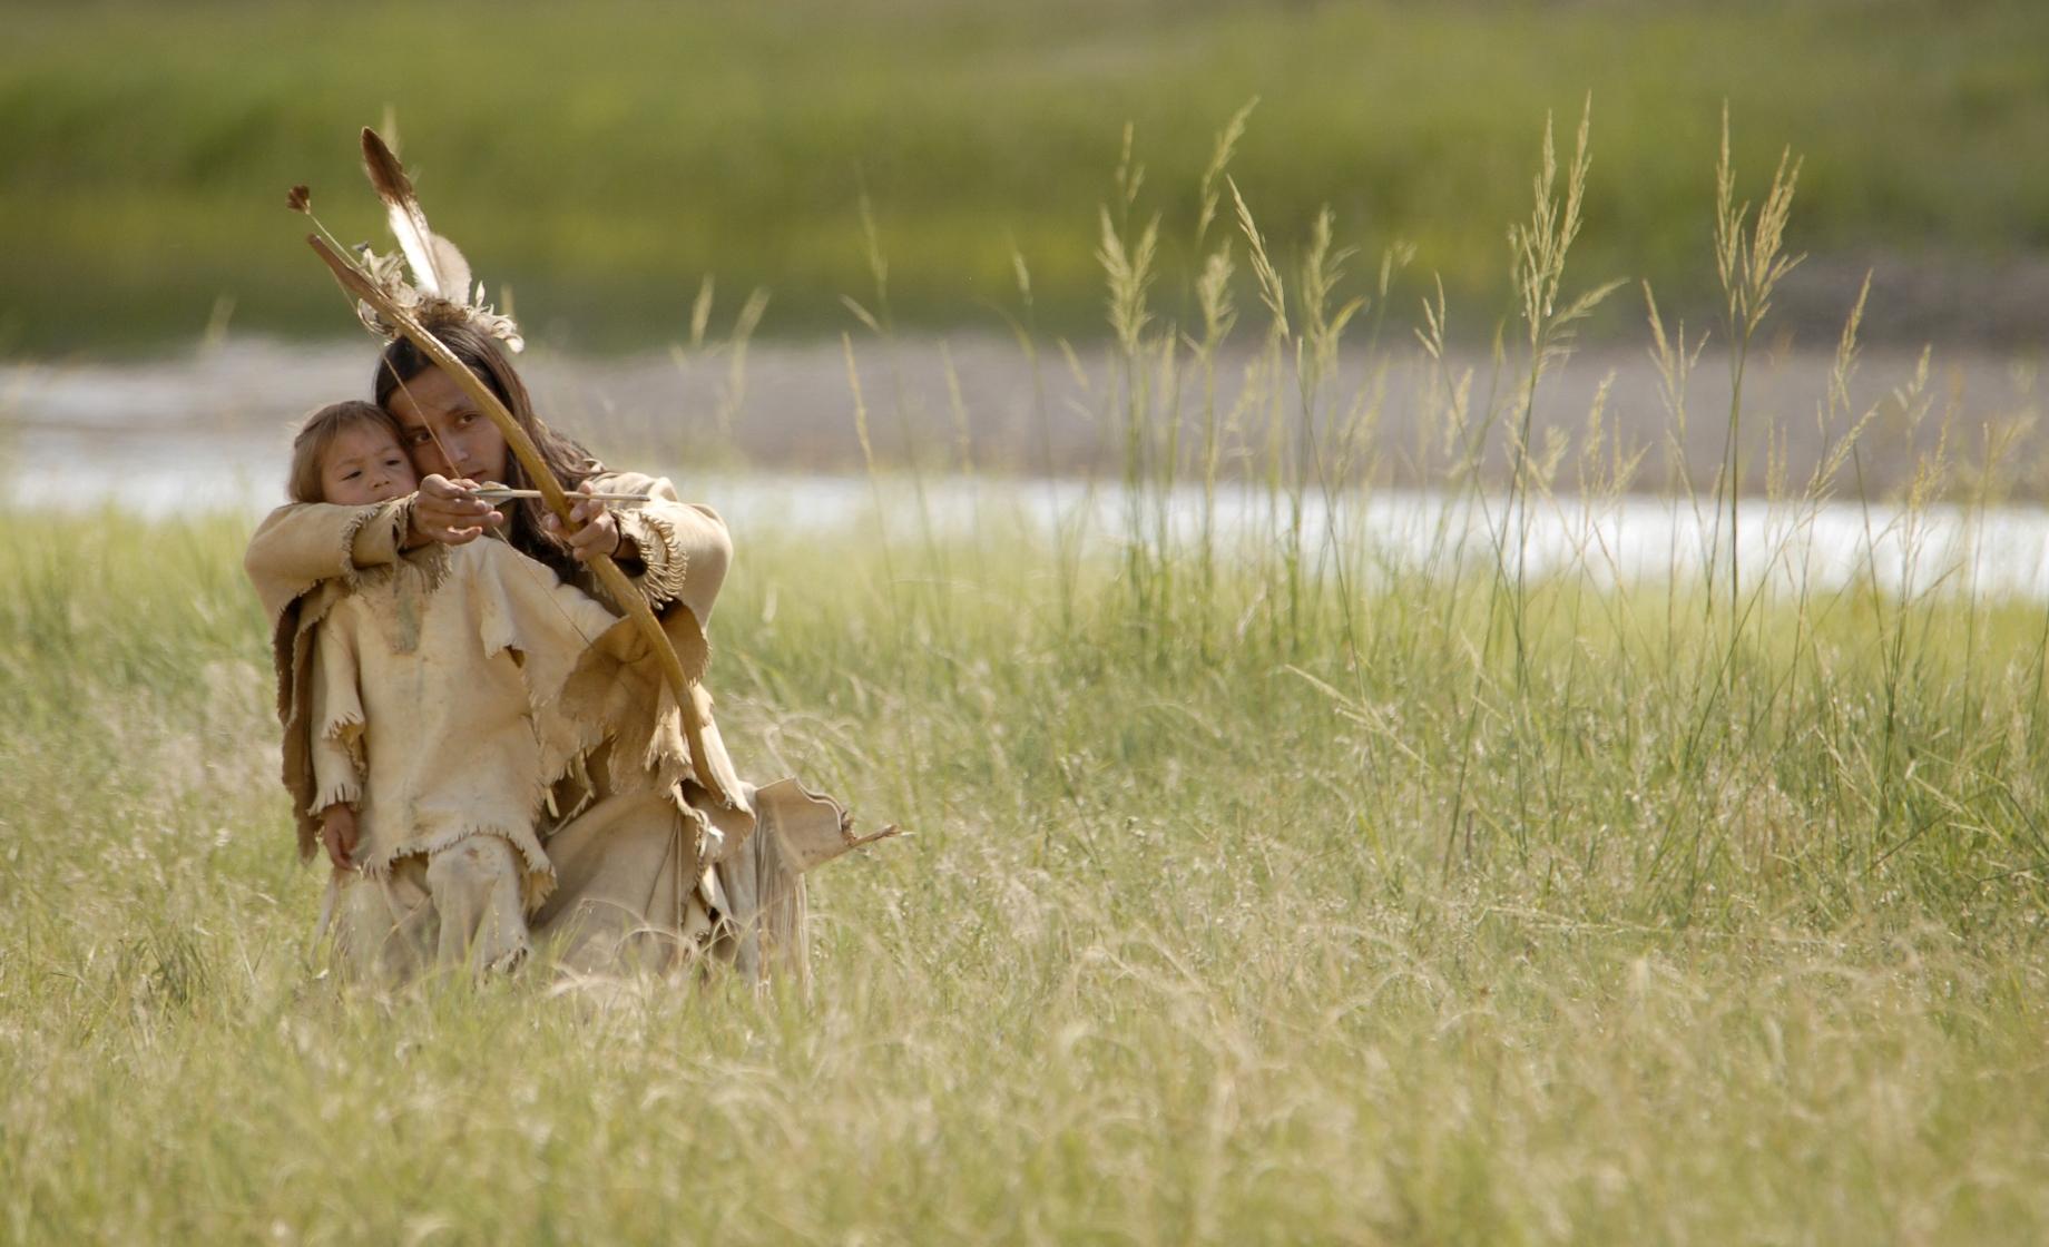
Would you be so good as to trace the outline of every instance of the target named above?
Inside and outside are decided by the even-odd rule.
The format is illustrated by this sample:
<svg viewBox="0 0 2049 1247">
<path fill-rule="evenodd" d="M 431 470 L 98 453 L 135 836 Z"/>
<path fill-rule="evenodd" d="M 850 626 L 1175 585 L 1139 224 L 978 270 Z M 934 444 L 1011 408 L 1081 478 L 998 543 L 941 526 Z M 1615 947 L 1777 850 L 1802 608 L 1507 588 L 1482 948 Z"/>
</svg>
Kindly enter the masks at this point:
<svg viewBox="0 0 2049 1247">
<path fill-rule="evenodd" d="M 322 407 L 293 440 L 295 502 L 369 506 L 416 487 L 398 424 L 373 403 Z M 309 813 L 336 866 L 328 903 L 350 971 L 522 960 L 527 915 L 555 885 L 535 819 L 598 735 L 547 706 L 613 622 L 490 539 L 365 571 L 320 616 Z"/>
</svg>

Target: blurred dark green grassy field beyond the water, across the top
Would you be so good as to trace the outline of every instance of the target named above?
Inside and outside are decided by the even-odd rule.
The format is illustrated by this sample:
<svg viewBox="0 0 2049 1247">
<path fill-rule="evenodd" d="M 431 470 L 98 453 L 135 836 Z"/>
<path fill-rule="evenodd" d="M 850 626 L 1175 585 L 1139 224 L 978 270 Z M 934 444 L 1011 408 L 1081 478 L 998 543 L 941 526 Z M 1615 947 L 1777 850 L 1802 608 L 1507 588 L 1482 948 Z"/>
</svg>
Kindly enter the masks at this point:
<svg viewBox="0 0 2049 1247">
<path fill-rule="evenodd" d="M 1588 266 L 1674 305 L 1709 291 L 1723 100 L 1746 176 L 1783 145 L 1807 158 L 1795 248 L 1850 287 L 1824 319 L 1877 258 L 1998 276 L 2049 248 L 2049 172 L 2022 158 L 2049 135 L 2049 18 L 2020 2 L 94 2 L 0 4 L 0 29 L 8 352 L 221 317 L 348 332 L 281 199 L 311 182 L 340 233 L 383 238 L 352 135 L 387 104 L 434 219 L 539 340 L 576 348 L 684 338 L 705 274 L 717 324 L 754 287 L 764 332 L 848 324 L 838 297 L 873 287 L 863 195 L 906 324 L 1000 328 L 1016 248 L 1041 324 L 1094 330 L 1125 121 L 1147 168 L 1133 211 L 1162 213 L 1193 274 L 1199 174 L 1254 96 L 1236 172 L 1277 246 L 1328 203 L 1340 244 L 1414 246 L 1404 324 L 1438 272 L 1477 340 L 1506 309 L 1500 221 L 1541 117 L 1588 94 Z"/>
</svg>

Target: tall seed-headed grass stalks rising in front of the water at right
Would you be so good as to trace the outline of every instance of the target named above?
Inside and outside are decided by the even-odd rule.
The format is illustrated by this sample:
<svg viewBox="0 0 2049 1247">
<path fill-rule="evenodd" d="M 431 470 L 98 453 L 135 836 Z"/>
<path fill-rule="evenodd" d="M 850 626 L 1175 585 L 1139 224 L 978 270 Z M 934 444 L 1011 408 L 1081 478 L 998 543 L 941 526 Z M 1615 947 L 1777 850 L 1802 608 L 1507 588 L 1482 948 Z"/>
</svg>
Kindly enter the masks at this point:
<svg viewBox="0 0 2049 1247">
<path fill-rule="evenodd" d="M 1223 162 L 1238 141 L 1242 119 L 1217 139 L 1217 160 L 1211 176 L 1221 176 Z M 1217 272 L 1233 262 L 1229 250 L 1203 260 L 1193 276 L 1199 293 L 1197 315 L 1201 332 L 1184 332 L 1168 319 L 1152 326 L 1143 291 L 1156 276 L 1149 268 L 1152 225 L 1141 244 L 1121 244 L 1117 219 L 1135 211 L 1133 156 L 1127 131 L 1125 156 L 1117 176 L 1115 215 L 1104 211 L 1102 262 L 1111 291 L 1111 319 L 1117 330 L 1115 428 L 1123 448 L 1121 487 L 1127 522 L 1121 534 L 1127 606 L 1137 616 L 1133 637 L 1152 661 L 1174 665 L 1188 653 L 1217 657 L 1207 641 L 1217 635 L 1219 608 L 1236 620 L 1229 645 L 1256 649 L 1285 670 L 1301 672 L 1322 688 L 1340 715 L 1369 715 L 1365 670 L 1373 661 L 1375 641 L 1387 645 L 1391 635 L 1408 645 L 1436 647 L 1428 655 L 1410 653 L 1418 665 L 1440 672 L 1461 684 L 1451 700 L 1455 723 L 1449 751 L 1449 803 L 1445 813 L 1447 848 L 1459 835 L 1469 835 L 1477 817 L 1469 784 L 1473 766 L 1488 760 L 1502 774 L 1514 776 L 1514 815 L 1502 817 L 1502 831 L 1520 864 L 1529 864 L 1555 829 L 1557 784 L 1563 782 L 1567 760 L 1584 745 L 1567 743 L 1565 723 L 1555 721 L 1553 698 L 1572 706 L 1582 696 L 1586 680 L 1621 680 L 1660 690 L 1658 706 L 1668 747 L 1666 766 L 1682 780 L 1686 801 L 1651 844 L 1645 885 L 1647 895 L 1666 917 L 1690 921 L 1703 901 L 1703 880 L 1727 852 L 1723 803 L 1723 772 L 1754 749 L 1783 749 L 1785 739 L 1799 737 L 1815 725 L 1803 715 L 1817 715 L 1830 731 L 1840 731 L 1836 692 L 1830 670 L 1817 651 L 1815 598 L 1809 584 L 1813 557 L 1811 526 L 1822 506 L 1838 487 L 1842 469 L 1860 465 L 1860 438 L 1877 416 L 1877 407 L 1850 410 L 1850 377 L 1856 371 L 1856 328 L 1865 311 L 1860 295 L 1846 309 L 1836 369 L 1824 407 L 1815 414 L 1824 430 L 1824 453 L 1807 481 L 1791 483 L 1770 465 L 1766 502 L 1783 516 L 1776 545 L 1756 557 L 1762 573 L 1746 586 L 1740 569 L 1746 565 L 1738 545 L 1742 524 L 1740 498 L 1744 442 L 1744 369 L 1752 340 L 1764 321 L 1772 293 L 1797 258 L 1785 254 L 1791 219 L 1797 164 L 1781 158 L 1779 172 L 1754 225 L 1746 235 L 1748 207 L 1738 205 L 1731 184 L 1727 123 L 1717 160 L 1715 235 L 1711 260 L 1727 299 L 1723 354 L 1731 369 L 1731 407 L 1725 430 L 1723 469 L 1715 477 L 1713 500 L 1701 516 L 1699 498 L 1688 489 L 1692 514 L 1701 518 L 1705 541 L 1699 592 L 1686 590 L 1676 575 L 1656 586 L 1662 596 L 1658 614 L 1643 600 L 1643 586 L 1615 584 L 1613 553 L 1598 547 L 1592 516 L 1613 506 L 1635 485 L 1637 469 L 1649 450 L 1627 446 L 1619 434 L 1604 438 L 1606 383 L 1592 395 L 1588 426 L 1578 448 L 1551 430 L 1547 444 L 1533 444 L 1533 412 L 1537 389 L 1561 362 L 1574 340 L 1574 330 L 1611 295 L 1619 283 L 1598 283 L 1584 293 L 1572 293 L 1565 281 L 1565 260 L 1582 229 L 1584 188 L 1590 158 L 1590 109 L 1582 117 L 1570 164 L 1561 170 L 1551 145 L 1549 125 L 1543 133 L 1539 168 L 1533 184 L 1533 215 L 1510 229 L 1510 285 L 1522 321 L 1520 358 L 1496 352 L 1496 381 L 1475 414 L 1471 375 L 1438 373 L 1426 401 L 1438 403 L 1436 420 L 1442 444 L 1463 461 L 1451 475 L 1438 532 L 1422 565 L 1373 563 L 1373 536 L 1356 528 L 1358 512 L 1369 493 L 1354 485 L 1373 479 L 1371 463 L 1354 463 L 1350 448 L 1363 444 L 1361 424 L 1377 412 L 1371 393 L 1373 379 L 1385 377 L 1385 356 L 1377 338 L 1365 360 L 1354 360 L 1350 377 L 1367 377 L 1350 399 L 1332 397 L 1326 387 L 1340 375 L 1340 340 L 1352 317 L 1369 305 L 1367 297 L 1342 291 L 1344 250 L 1332 248 L 1332 217 L 1320 215 L 1303 242 L 1299 281 L 1283 278 L 1274 248 L 1262 233 L 1246 197 L 1231 186 L 1240 223 L 1240 240 L 1254 272 L 1254 285 L 1268 313 L 1258 346 L 1246 356 L 1248 375 L 1238 399 L 1240 412 L 1252 412 L 1250 428 L 1238 426 L 1236 438 L 1217 436 L 1213 405 L 1213 367 L 1217 348 L 1236 317 L 1225 315 L 1217 291 Z M 1205 182 L 1205 195 L 1209 186 Z M 1135 264 L 1133 254 L 1147 262 Z M 1387 264 L 1383 262 L 1383 274 Z M 1381 281 L 1385 295 L 1387 283 Z M 1867 285 L 1869 291 L 1869 285 Z M 1649 299 L 1651 354 L 1664 379 L 1666 403 L 1674 430 L 1668 440 L 1672 469 L 1668 481 L 1682 481 L 1678 448 L 1684 442 L 1686 383 L 1705 348 L 1703 338 L 1688 342 L 1684 326 L 1668 334 Z M 1424 352 L 1445 360 L 1445 324 L 1449 305 L 1442 293 L 1426 301 L 1418 330 Z M 1139 360 L 1160 360 L 1152 373 L 1162 381 L 1152 389 L 1139 385 Z M 1449 364 L 1447 364 L 1449 367 Z M 1502 371 L 1520 377 L 1510 387 L 1500 383 Z M 1195 385 L 1180 381 L 1182 373 L 1197 377 Z M 1926 410 L 1926 360 L 1908 389 L 1889 397 L 1889 405 L 1910 424 Z M 1174 465 L 1160 465 L 1158 455 L 1172 453 L 1180 426 L 1190 418 L 1182 410 L 1184 391 L 1201 393 L 1193 418 L 1203 428 L 1203 448 L 1197 471 L 1203 473 L 1199 504 L 1199 536 L 1193 563 L 1199 569 L 1203 594 L 1160 596 L 1149 586 L 1172 584 L 1176 567 L 1190 561 L 1178 545 L 1168 514 L 1176 508 Z M 1342 414 L 1342 420 L 1340 420 Z M 1953 401 L 1947 420 L 1957 420 Z M 1947 428 L 1947 426 L 1945 426 Z M 2002 434 L 1994 434 L 2002 436 Z M 2010 438 L 2010 434 L 2004 434 Z M 1490 446 L 1500 444 L 1506 477 L 1490 477 L 1486 463 Z M 1766 436 L 1768 444 L 1776 442 Z M 2004 444 L 2012 444 L 2006 440 Z M 1951 489 L 1949 438 L 1934 440 L 1934 455 L 1916 473 L 1914 485 L 1889 524 L 1891 532 L 1873 526 L 1873 506 L 1863 489 L 1869 559 L 1863 602 L 1877 622 L 1881 735 L 1873 754 L 1871 778 L 1877 780 L 1877 805 L 1889 811 L 1897 768 L 1895 745 L 1901 731 L 1901 706 L 1918 696 L 1914 680 L 1938 655 L 1910 653 L 1914 629 L 1926 627 L 1934 610 L 1932 594 L 1959 575 L 1955 567 L 1922 565 L 1922 543 L 1928 528 L 1928 508 Z M 1254 526 L 1250 541 L 1236 559 L 1248 579 L 1250 598 L 1221 606 L 1209 592 L 1215 577 L 1215 477 L 1213 465 L 1236 459 L 1264 498 L 1264 528 Z M 1576 471 L 1576 496 L 1555 493 L 1561 467 Z M 1334 465 L 1342 469 L 1334 471 Z M 2008 465 L 2018 469 L 2018 465 Z M 1977 506 L 1985 500 L 1985 481 L 1998 477 L 1992 457 L 1979 475 Z M 1305 545 L 1307 504 L 1320 502 L 1328 534 L 1324 555 L 1311 567 Z M 1969 500 L 1967 500 L 1969 502 Z M 1559 514 L 1586 516 L 1586 536 L 1565 565 L 1553 565 L 1543 577 L 1531 575 L 1531 508 L 1555 508 Z M 1477 522 L 1475 522 L 1477 520 Z M 1475 563 L 1471 534 L 1486 534 L 1486 553 Z M 1906 571 L 1897 586 L 1887 586 L 1877 567 L 1877 549 L 1893 536 L 1906 549 Z M 1725 573 L 1725 582 L 1717 577 Z M 1475 594 L 1477 584 L 1486 586 Z M 1723 590 L 1725 584 L 1725 590 Z M 1365 592 L 1371 586 L 1373 592 Z M 1840 604 L 1832 604 L 1830 610 Z M 1965 598 L 1963 620 L 1977 620 L 1983 606 Z M 1406 633 L 1391 633 L 1385 618 L 1410 614 Z M 1826 612 L 1824 612 L 1826 614 Z M 1967 622 L 1965 653 L 1977 661 L 1977 622 Z M 1617 649 L 1598 659 L 1586 653 L 1592 631 L 1613 631 Z M 1713 639 L 1719 631 L 1719 639 Z M 1506 657 L 1496 655 L 1496 637 L 1510 641 Z M 1746 641 L 1746 635 L 1750 641 Z M 1545 637 L 1539 643 L 1539 637 Z M 1785 645 L 1787 637 L 1791 647 Z M 1565 641 L 1574 639 L 1574 641 Z M 1543 653 L 1549 647 L 1551 653 Z M 1779 661 L 1783 659 L 1783 661 Z M 1504 684 L 1506 661 L 1508 682 Z M 1324 674 L 1307 668 L 1324 663 Z M 1334 663 L 1334 665 L 1332 665 Z M 2035 668 L 2039 663 L 2031 663 Z M 2033 711 L 2029 713 L 2033 719 Z M 1488 725 L 1502 735 L 1488 741 Z M 1781 735 L 1785 733 L 1785 735 Z M 1402 749 L 1408 754 L 1410 749 Z M 1365 774 L 1379 774 L 1373 760 L 1363 758 Z M 1545 807 L 1551 813 L 1545 815 Z M 1838 811 L 1840 813 L 1840 811 Z M 1885 815 L 1893 817 L 1891 813 Z M 1551 823 L 1551 827 L 1547 827 Z M 1447 856 L 1449 862 L 1449 856 Z"/>
</svg>

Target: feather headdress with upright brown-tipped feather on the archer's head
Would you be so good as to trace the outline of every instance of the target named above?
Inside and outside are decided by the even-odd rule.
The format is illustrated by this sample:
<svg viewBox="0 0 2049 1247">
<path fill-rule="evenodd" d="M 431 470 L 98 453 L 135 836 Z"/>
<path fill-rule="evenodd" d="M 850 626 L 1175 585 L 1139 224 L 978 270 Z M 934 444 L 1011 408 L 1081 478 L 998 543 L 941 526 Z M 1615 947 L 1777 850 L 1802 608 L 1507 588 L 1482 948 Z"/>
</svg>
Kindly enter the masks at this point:
<svg viewBox="0 0 2049 1247">
<path fill-rule="evenodd" d="M 412 192 L 412 178 L 398 162 L 391 147 L 377 131 L 363 129 L 363 170 L 385 205 L 385 221 L 398 240 L 395 256 L 379 256 L 367 244 L 357 248 L 363 256 L 363 270 L 402 311 L 426 328 L 449 321 L 465 321 L 482 334 L 498 338 L 508 350 L 522 350 L 527 342 L 518 336 L 512 317 L 500 315 L 484 301 L 484 283 L 471 289 L 469 260 L 455 244 L 426 227 L 426 213 Z M 406 281 L 412 270 L 412 281 Z M 365 301 L 357 303 L 363 326 L 379 338 L 398 338 L 398 326 Z"/>
</svg>

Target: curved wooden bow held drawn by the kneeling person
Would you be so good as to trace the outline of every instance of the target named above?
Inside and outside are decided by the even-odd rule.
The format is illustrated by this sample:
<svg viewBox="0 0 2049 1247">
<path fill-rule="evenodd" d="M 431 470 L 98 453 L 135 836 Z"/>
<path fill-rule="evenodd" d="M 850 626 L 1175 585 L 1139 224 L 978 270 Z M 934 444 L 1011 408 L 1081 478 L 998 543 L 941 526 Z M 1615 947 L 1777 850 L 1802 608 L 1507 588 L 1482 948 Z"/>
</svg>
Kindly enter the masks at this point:
<svg viewBox="0 0 2049 1247">
<path fill-rule="evenodd" d="M 426 332 L 426 326 L 422 326 L 418 317 L 393 303 L 391 297 L 385 295 L 383 289 L 371 281 L 371 276 L 363 272 L 354 260 L 336 252 L 318 233 L 305 235 L 305 242 L 311 244 L 313 252 L 328 264 L 334 272 L 334 281 L 342 283 L 344 291 L 375 307 L 377 315 L 381 315 L 387 326 L 410 338 L 412 344 L 426 354 L 426 358 L 434 360 L 434 364 L 463 389 L 463 393 L 475 399 L 477 410 L 492 418 L 492 424 L 496 424 L 498 432 L 504 434 L 506 446 L 512 448 L 520 467 L 527 469 L 527 479 L 541 487 L 541 500 L 547 504 L 547 510 L 555 512 L 563 530 L 572 530 L 570 491 L 555 479 L 547 461 L 541 459 L 541 448 L 533 444 L 533 438 L 527 436 L 520 422 L 512 418 L 512 412 L 506 412 L 506 405 L 498 401 L 498 395 L 492 393 L 492 389 L 484 385 L 475 373 L 463 367 L 463 360 L 455 358 L 455 354 L 441 344 L 441 338 Z M 627 618 L 631 618 L 639 633 L 647 639 L 656 661 L 662 665 L 662 678 L 670 692 L 676 694 L 676 711 L 682 715 L 682 735 L 691 743 L 691 770 L 697 772 L 695 778 L 699 786 L 711 792 L 711 797 L 727 809 L 740 807 L 734 792 L 725 790 L 723 780 L 711 766 L 709 754 L 705 751 L 705 715 L 697 702 L 697 684 L 688 678 L 688 674 L 684 674 L 682 659 L 676 657 L 676 647 L 670 645 L 668 633 L 662 631 L 662 625 L 656 620 L 647 600 L 633 588 L 633 582 L 627 579 L 627 573 L 621 571 L 609 555 L 592 555 L 588 567 L 598 573 L 598 584 L 602 584 L 604 592 L 613 596 L 613 602 L 627 612 Z"/>
</svg>

